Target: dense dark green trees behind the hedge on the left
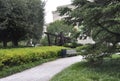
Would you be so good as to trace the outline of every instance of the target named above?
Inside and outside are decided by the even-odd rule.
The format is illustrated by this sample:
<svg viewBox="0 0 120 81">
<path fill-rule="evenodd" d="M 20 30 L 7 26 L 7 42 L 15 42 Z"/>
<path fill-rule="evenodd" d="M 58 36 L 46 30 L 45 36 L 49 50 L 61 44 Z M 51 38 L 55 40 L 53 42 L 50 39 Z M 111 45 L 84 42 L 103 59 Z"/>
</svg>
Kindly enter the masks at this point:
<svg viewBox="0 0 120 81">
<path fill-rule="evenodd" d="M 39 40 L 43 31 L 44 4 L 40 0 L 0 0 L 0 41 L 13 46 L 26 39 Z"/>
</svg>

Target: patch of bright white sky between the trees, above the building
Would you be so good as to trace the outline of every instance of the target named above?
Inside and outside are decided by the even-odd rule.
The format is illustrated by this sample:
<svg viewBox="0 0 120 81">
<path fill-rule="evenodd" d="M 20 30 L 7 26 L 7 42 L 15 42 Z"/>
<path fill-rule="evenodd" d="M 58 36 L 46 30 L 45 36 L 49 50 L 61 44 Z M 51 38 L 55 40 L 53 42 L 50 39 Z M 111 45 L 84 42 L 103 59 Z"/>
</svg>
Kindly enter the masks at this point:
<svg viewBox="0 0 120 81">
<path fill-rule="evenodd" d="M 53 21 L 52 11 L 55 11 L 58 6 L 71 4 L 71 0 L 43 0 L 45 5 L 45 23 Z"/>
</svg>

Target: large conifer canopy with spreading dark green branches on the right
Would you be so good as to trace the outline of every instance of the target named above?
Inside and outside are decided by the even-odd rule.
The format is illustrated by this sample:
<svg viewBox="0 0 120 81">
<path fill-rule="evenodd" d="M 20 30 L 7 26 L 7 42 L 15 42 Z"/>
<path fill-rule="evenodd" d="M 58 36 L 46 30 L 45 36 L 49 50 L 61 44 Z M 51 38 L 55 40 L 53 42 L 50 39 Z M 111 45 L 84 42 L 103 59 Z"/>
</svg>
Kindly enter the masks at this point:
<svg viewBox="0 0 120 81">
<path fill-rule="evenodd" d="M 60 15 L 68 15 L 64 21 L 72 25 L 79 22 L 79 25 L 84 26 L 84 34 L 91 36 L 96 42 L 92 50 L 97 47 L 96 51 L 101 50 L 106 46 L 110 49 L 101 50 L 102 52 L 117 52 L 120 42 L 120 0 L 73 0 L 72 5 L 75 6 L 74 9 L 59 9 Z"/>
</svg>

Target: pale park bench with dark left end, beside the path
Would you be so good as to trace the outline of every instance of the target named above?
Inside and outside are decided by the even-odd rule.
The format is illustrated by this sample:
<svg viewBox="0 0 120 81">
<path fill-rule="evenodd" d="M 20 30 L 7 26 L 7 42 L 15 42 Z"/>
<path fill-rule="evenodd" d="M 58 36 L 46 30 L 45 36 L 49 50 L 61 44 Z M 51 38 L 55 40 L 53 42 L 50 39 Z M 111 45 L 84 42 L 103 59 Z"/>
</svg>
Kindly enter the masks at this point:
<svg viewBox="0 0 120 81">
<path fill-rule="evenodd" d="M 78 52 L 75 49 L 62 49 L 61 50 L 61 56 L 62 57 L 75 56 L 77 54 L 78 54 Z"/>
</svg>

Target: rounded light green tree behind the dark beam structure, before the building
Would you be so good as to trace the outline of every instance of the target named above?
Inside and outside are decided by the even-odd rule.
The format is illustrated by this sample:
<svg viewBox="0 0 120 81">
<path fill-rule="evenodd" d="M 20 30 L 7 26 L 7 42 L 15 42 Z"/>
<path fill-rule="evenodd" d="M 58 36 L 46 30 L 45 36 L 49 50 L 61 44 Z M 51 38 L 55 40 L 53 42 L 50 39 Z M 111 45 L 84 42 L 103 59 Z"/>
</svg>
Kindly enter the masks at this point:
<svg viewBox="0 0 120 81">
<path fill-rule="evenodd" d="M 52 34 L 60 34 L 62 32 L 64 36 L 69 36 L 70 33 L 72 32 L 73 26 L 65 24 L 62 20 L 57 20 L 53 23 L 50 23 L 47 27 L 47 32 L 52 33 Z M 50 40 L 53 41 L 54 43 L 55 37 L 51 36 Z"/>
</svg>

